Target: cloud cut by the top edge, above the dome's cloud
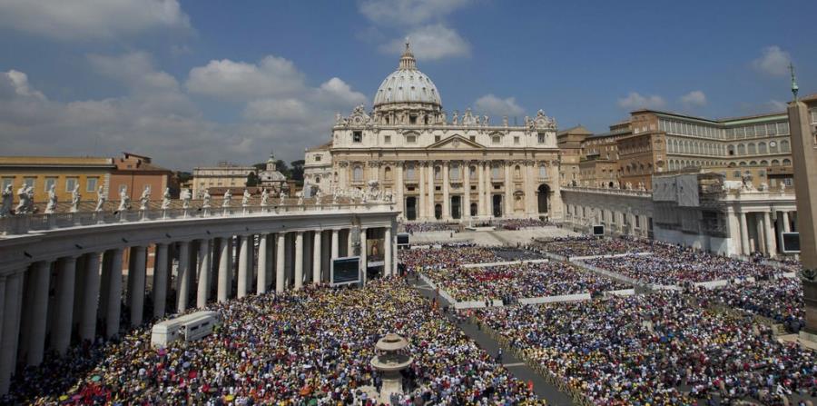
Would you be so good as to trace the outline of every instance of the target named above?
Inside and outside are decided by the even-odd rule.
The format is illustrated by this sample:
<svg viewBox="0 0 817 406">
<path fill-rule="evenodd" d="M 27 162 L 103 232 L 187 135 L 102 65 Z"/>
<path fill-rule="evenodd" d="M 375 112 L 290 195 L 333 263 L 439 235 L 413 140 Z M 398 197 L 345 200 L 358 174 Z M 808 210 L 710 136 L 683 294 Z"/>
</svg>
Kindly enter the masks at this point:
<svg viewBox="0 0 817 406">
<path fill-rule="evenodd" d="M 360 13 L 378 25 L 420 25 L 468 5 L 469 0 L 365 0 Z"/>
</svg>

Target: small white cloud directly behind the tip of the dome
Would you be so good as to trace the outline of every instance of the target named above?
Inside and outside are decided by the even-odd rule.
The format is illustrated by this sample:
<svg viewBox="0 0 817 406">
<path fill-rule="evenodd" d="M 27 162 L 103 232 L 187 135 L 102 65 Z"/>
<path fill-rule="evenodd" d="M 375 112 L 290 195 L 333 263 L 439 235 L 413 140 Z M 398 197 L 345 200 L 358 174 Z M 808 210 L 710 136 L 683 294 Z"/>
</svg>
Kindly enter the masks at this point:
<svg viewBox="0 0 817 406">
<path fill-rule="evenodd" d="M 408 33 L 411 50 L 420 60 L 436 60 L 447 57 L 470 56 L 471 45 L 457 31 L 442 24 L 425 25 Z M 388 44 L 380 45 L 380 51 L 387 54 L 401 54 L 406 39 L 395 38 Z"/>
</svg>

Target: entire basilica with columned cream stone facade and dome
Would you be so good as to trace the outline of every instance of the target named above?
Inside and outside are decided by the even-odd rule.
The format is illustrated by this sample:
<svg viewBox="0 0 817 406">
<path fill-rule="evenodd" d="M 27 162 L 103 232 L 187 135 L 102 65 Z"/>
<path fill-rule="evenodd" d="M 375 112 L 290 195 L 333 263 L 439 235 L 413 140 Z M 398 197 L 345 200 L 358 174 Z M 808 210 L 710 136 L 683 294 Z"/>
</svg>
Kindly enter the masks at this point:
<svg viewBox="0 0 817 406">
<path fill-rule="evenodd" d="M 305 181 L 324 193 L 377 181 L 407 221 L 562 216 L 556 121 L 542 111 L 524 125 L 470 109 L 448 117 L 408 44 L 372 110 L 338 114 L 330 143 L 305 161 Z"/>
</svg>

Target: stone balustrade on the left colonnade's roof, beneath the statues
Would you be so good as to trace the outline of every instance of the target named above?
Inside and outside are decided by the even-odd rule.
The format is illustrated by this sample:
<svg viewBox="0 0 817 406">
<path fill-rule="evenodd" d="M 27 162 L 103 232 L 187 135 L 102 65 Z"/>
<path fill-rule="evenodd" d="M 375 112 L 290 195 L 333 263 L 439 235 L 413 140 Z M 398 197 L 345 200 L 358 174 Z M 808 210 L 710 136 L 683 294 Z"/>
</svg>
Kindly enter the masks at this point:
<svg viewBox="0 0 817 406">
<path fill-rule="evenodd" d="M 276 199 L 278 200 L 278 199 Z M 156 222 L 194 218 L 215 218 L 229 216 L 247 216 L 263 214 L 321 213 L 349 210 L 354 212 L 394 210 L 393 203 L 312 203 L 312 204 L 272 204 L 247 206 L 211 206 L 211 207 L 172 207 L 169 209 L 129 210 L 123 212 L 77 213 L 34 213 L 18 214 L 0 218 L 0 237 L 20 235 L 29 232 L 55 230 L 70 227 L 82 227 L 99 224 Z"/>
</svg>

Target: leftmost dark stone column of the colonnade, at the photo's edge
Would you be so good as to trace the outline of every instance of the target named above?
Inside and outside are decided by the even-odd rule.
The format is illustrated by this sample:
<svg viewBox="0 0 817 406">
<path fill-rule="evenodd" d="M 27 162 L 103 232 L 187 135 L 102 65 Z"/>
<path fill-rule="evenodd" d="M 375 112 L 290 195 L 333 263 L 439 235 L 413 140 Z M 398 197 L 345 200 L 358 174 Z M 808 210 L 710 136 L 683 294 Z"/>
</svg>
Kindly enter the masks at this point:
<svg viewBox="0 0 817 406">
<path fill-rule="evenodd" d="M 5 277 L 0 288 L 5 291 L 2 305 L 2 343 L 0 343 L 0 393 L 8 393 L 12 374 L 17 363 L 17 343 L 20 338 L 20 320 L 23 310 L 23 271 Z M 72 292 L 73 293 L 73 292 Z M 70 306 L 69 306 L 70 312 Z M 71 324 L 68 324 L 69 340 Z"/>
</svg>

